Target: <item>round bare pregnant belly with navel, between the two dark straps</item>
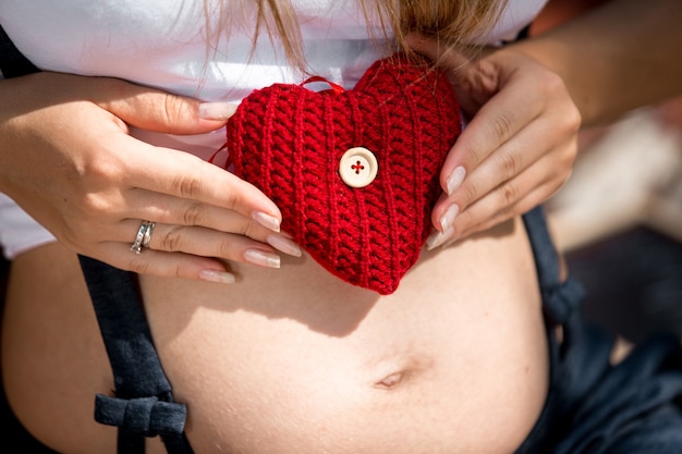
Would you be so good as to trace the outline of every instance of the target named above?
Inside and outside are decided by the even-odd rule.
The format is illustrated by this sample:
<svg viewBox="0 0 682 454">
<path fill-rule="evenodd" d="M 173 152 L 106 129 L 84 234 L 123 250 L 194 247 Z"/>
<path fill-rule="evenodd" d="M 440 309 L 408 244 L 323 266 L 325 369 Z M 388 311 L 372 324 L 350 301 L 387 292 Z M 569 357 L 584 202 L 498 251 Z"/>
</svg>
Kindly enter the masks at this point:
<svg viewBox="0 0 682 454">
<path fill-rule="evenodd" d="M 548 359 L 525 234 L 498 233 L 425 251 L 386 297 L 309 257 L 233 286 L 144 279 L 196 452 L 513 452 Z"/>
</svg>

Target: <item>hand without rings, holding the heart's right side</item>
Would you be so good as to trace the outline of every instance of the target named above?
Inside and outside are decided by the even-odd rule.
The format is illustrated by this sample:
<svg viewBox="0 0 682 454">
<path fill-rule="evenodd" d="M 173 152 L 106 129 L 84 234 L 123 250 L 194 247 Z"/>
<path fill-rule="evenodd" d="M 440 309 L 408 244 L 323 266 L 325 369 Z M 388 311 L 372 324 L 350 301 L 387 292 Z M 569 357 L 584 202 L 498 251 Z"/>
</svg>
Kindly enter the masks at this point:
<svg viewBox="0 0 682 454">
<path fill-rule="evenodd" d="M 524 213 L 563 185 L 581 116 L 558 75 L 513 47 L 466 58 L 422 37 L 410 45 L 448 71 L 470 119 L 442 168 L 429 248 Z"/>
</svg>

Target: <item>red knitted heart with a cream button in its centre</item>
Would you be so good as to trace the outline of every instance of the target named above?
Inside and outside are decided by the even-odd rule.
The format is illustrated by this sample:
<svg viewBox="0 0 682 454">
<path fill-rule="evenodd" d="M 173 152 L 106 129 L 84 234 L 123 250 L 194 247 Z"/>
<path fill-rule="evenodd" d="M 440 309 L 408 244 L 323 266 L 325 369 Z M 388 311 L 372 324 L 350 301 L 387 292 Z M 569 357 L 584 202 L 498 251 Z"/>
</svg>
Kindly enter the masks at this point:
<svg viewBox="0 0 682 454">
<path fill-rule="evenodd" d="M 376 62 L 351 90 L 276 84 L 228 122 L 234 173 L 281 209 L 282 230 L 334 275 L 380 294 L 418 259 L 440 194 L 438 174 L 462 127 L 448 78 L 404 54 Z M 342 155 L 370 150 L 376 179 L 339 173 Z"/>
</svg>

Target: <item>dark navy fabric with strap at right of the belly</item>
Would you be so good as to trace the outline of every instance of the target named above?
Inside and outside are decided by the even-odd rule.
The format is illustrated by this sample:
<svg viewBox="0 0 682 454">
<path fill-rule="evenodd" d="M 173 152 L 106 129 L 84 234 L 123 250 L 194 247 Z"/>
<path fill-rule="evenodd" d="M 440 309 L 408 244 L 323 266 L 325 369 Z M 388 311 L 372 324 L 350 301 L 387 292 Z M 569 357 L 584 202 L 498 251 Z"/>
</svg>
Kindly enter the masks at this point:
<svg viewBox="0 0 682 454">
<path fill-rule="evenodd" d="M 580 286 L 560 282 L 541 218 L 536 209 L 524 220 L 547 311 L 550 388 L 516 454 L 682 453 L 680 339 L 653 336 L 612 365 L 614 335 L 584 318 Z"/>
</svg>

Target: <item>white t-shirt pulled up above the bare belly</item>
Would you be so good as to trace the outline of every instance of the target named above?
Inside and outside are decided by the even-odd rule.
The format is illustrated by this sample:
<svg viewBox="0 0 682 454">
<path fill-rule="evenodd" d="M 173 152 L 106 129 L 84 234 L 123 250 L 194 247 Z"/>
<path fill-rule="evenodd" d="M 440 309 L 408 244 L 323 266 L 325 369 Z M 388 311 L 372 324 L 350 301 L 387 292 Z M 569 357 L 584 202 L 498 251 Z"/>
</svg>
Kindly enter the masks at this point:
<svg viewBox="0 0 682 454">
<path fill-rule="evenodd" d="M 511 0 L 483 41 L 513 39 L 546 1 Z M 292 3 L 313 73 L 351 88 L 374 61 L 383 57 L 381 47 L 370 39 L 356 0 Z M 251 53 L 253 27 L 232 26 L 229 39 L 221 38 L 214 54 L 206 42 L 204 2 L 2 0 L 0 24 L 20 51 L 41 70 L 120 77 L 205 101 L 239 102 L 253 89 L 301 82 L 283 53 L 272 50 L 267 36 L 259 38 Z M 375 36 L 381 36 L 376 32 Z M 204 158 L 224 142 L 222 132 L 183 137 L 141 131 L 134 134 Z M 53 240 L 0 194 L 0 244 L 8 258 Z"/>
</svg>

